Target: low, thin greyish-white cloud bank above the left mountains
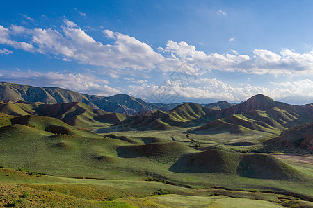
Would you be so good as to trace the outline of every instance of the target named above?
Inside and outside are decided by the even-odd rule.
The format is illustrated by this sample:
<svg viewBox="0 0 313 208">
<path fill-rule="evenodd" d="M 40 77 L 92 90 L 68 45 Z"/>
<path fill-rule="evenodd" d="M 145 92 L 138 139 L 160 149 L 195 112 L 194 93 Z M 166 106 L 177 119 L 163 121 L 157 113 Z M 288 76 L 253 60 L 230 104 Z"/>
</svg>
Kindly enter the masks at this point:
<svg viewBox="0 0 313 208">
<path fill-rule="evenodd" d="M 25 85 L 33 85 L 36 83 L 38 87 L 61 87 L 72 89 L 77 92 L 86 94 L 97 94 L 100 96 L 109 96 L 119 94 L 120 91 L 113 87 L 109 87 L 107 80 L 95 78 L 81 73 L 55 73 L 55 72 L 17 72 L 0 71 L 1 80 L 22 83 Z"/>
</svg>

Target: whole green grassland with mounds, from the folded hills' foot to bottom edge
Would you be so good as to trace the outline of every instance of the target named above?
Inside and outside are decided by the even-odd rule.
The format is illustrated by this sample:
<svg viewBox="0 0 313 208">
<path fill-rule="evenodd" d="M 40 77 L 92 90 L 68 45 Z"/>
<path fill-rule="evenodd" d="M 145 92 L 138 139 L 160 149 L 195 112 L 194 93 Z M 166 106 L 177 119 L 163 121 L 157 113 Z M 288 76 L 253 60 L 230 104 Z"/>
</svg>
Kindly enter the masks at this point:
<svg viewBox="0 0 313 208">
<path fill-rule="evenodd" d="M 1 118 L 0 206 L 312 205 L 312 164 L 241 153 L 262 147 L 280 128 L 90 132 L 50 117 Z"/>
</svg>

